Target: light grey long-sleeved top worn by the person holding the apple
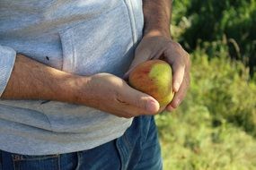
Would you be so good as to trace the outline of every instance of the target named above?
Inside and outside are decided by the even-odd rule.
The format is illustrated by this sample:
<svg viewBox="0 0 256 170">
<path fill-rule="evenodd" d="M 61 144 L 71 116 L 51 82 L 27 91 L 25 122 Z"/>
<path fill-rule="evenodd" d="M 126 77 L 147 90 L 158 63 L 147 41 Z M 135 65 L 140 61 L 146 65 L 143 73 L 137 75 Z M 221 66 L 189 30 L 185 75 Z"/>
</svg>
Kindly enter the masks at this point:
<svg viewBox="0 0 256 170">
<path fill-rule="evenodd" d="M 143 30 L 142 0 L 0 0 L 0 95 L 16 53 L 65 72 L 128 70 Z M 45 155 L 92 149 L 132 119 L 57 101 L 0 100 L 0 149 Z"/>
</svg>

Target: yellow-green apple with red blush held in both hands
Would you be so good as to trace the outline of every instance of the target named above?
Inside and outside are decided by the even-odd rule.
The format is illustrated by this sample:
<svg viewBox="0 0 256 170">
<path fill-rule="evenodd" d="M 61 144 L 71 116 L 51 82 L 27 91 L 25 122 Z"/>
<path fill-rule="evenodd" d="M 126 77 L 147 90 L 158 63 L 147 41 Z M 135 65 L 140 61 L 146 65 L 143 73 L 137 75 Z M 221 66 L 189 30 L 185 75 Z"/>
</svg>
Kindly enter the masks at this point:
<svg viewBox="0 0 256 170">
<path fill-rule="evenodd" d="M 160 106 L 166 106 L 172 101 L 172 68 L 163 60 L 138 64 L 130 72 L 128 82 L 134 89 L 155 98 Z"/>
</svg>

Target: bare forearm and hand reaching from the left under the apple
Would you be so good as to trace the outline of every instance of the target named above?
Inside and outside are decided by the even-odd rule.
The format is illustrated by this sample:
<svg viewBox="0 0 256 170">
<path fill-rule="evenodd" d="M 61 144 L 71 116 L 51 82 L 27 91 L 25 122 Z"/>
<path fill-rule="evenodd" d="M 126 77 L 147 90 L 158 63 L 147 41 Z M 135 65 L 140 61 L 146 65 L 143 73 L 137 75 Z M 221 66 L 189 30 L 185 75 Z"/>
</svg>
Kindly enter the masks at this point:
<svg viewBox="0 0 256 170">
<path fill-rule="evenodd" d="M 109 73 L 78 76 L 17 55 L 3 99 L 45 99 L 91 106 L 121 117 L 154 115 L 158 102 Z"/>
</svg>

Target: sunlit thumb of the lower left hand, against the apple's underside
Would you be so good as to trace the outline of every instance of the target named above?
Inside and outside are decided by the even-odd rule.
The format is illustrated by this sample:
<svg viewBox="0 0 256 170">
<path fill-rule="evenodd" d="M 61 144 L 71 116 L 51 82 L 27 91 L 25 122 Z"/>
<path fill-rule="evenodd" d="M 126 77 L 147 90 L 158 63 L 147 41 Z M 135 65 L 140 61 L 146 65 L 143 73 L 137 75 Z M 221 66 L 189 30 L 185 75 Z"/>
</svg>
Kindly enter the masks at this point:
<svg viewBox="0 0 256 170">
<path fill-rule="evenodd" d="M 146 114 L 156 114 L 159 111 L 159 103 L 153 97 L 128 86 L 124 92 L 124 101 L 132 106 L 144 110 Z"/>
</svg>

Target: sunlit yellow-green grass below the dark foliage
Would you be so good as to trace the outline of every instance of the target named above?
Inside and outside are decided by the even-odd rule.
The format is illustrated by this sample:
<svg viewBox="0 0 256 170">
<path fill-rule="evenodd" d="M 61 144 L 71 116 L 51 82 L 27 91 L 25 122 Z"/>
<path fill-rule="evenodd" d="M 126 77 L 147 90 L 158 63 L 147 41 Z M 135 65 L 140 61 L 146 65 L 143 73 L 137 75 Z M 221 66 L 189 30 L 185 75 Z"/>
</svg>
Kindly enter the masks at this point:
<svg viewBox="0 0 256 170">
<path fill-rule="evenodd" d="M 256 85 L 248 68 L 227 57 L 192 54 L 187 98 L 156 116 L 164 169 L 256 168 Z"/>
</svg>

